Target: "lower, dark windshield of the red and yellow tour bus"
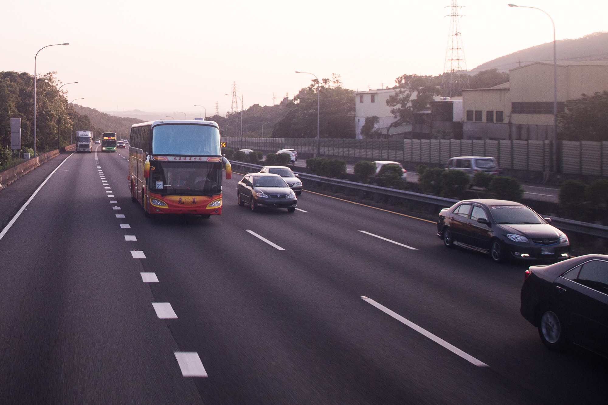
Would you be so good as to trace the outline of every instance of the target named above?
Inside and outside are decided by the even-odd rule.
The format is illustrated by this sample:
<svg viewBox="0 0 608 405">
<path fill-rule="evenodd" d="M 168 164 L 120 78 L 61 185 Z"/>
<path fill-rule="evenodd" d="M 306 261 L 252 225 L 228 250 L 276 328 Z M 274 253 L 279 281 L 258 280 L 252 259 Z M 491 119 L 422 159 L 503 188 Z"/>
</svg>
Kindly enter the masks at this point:
<svg viewBox="0 0 608 405">
<path fill-rule="evenodd" d="M 222 164 L 154 161 L 154 170 L 150 170 L 150 192 L 162 195 L 219 194 L 222 192 Z"/>
</svg>

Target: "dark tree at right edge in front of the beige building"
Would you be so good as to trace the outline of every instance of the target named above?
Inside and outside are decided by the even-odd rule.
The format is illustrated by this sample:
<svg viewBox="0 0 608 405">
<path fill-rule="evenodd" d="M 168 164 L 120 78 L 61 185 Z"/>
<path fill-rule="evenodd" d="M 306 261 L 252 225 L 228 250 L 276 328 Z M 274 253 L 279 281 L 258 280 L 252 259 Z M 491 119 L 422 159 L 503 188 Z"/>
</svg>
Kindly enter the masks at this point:
<svg viewBox="0 0 608 405">
<path fill-rule="evenodd" d="M 608 140 L 608 91 L 566 102 L 558 114 L 558 136 L 564 140 Z"/>
</svg>

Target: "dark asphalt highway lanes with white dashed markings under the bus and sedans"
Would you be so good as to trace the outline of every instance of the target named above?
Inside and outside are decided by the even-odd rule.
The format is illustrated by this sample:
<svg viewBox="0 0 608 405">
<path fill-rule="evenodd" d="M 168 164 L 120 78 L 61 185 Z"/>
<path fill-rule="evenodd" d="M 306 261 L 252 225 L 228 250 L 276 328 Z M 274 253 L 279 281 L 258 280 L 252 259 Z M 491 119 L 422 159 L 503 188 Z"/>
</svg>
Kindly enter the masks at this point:
<svg viewBox="0 0 608 405">
<path fill-rule="evenodd" d="M 606 403 L 608 361 L 519 314 L 524 266 L 312 192 L 251 212 L 238 174 L 221 216 L 145 218 L 127 157 L 69 155 L 0 239 L 0 402 Z"/>
</svg>

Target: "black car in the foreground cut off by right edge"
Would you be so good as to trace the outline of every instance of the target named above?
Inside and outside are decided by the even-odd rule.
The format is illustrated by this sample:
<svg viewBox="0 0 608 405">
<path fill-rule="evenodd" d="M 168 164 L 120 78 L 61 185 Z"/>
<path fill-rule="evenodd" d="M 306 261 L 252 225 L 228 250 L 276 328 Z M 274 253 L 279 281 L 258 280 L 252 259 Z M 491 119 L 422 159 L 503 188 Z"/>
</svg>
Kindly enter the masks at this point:
<svg viewBox="0 0 608 405">
<path fill-rule="evenodd" d="M 608 357 L 608 255 L 584 255 L 526 271 L 520 312 L 542 342 Z"/>
</svg>

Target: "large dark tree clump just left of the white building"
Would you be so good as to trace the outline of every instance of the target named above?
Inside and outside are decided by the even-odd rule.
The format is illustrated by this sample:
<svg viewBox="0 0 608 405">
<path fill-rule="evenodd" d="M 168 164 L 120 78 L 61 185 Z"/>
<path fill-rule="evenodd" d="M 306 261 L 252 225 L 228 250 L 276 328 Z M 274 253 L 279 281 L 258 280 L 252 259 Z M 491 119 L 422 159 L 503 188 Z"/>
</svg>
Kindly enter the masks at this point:
<svg viewBox="0 0 608 405">
<path fill-rule="evenodd" d="M 319 86 L 317 86 L 319 85 Z M 354 138 L 353 91 L 342 87 L 340 76 L 312 80 L 287 105 L 287 112 L 274 125 L 272 137 L 314 138 L 317 136 L 317 91 L 320 91 L 322 138 Z"/>
</svg>

